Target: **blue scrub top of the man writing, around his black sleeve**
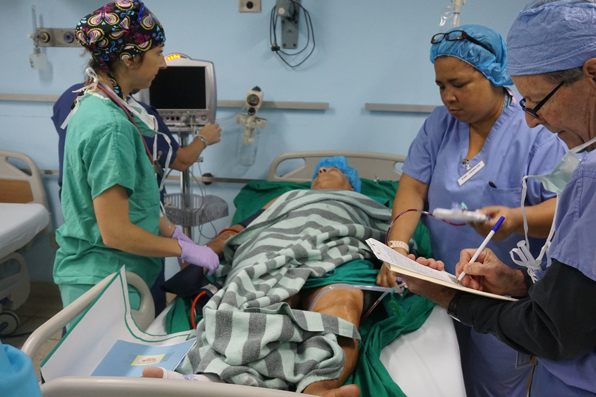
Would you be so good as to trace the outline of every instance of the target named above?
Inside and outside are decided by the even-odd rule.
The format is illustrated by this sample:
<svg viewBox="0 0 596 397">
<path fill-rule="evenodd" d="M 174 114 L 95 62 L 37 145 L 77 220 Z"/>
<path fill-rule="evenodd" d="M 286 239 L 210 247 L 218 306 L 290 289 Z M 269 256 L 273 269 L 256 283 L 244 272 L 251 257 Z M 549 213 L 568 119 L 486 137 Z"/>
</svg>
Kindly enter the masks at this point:
<svg viewBox="0 0 596 397">
<path fill-rule="evenodd" d="M 596 281 L 594 224 L 596 152 L 592 151 L 583 157 L 561 193 L 549 257 L 575 267 L 586 277 Z M 555 390 L 555 393 L 550 395 L 596 395 L 596 350 L 581 357 L 558 362 L 539 358 L 536 370 L 532 394 L 534 390 Z M 541 393 L 537 392 L 536 395 Z"/>
</svg>

